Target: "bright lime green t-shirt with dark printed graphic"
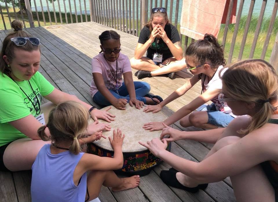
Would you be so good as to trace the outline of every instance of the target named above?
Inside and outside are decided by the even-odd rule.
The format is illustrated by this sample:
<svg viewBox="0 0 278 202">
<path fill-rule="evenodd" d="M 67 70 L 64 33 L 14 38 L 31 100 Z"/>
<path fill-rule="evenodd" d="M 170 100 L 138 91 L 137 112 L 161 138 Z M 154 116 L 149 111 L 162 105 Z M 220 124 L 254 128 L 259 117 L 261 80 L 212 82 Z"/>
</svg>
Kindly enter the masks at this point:
<svg viewBox="0 0 278 202">
<path fill-rule="evenodd" d="M 38 116 L 42 97 L 53 90 L 54 86 L 40 72 L 32 76 L 30 84 L 28 81 L 13 81 L 6 74 L 0 74 L 0 146 L 27 137 L 8 122 L 30 114 Z"/>
</svg>

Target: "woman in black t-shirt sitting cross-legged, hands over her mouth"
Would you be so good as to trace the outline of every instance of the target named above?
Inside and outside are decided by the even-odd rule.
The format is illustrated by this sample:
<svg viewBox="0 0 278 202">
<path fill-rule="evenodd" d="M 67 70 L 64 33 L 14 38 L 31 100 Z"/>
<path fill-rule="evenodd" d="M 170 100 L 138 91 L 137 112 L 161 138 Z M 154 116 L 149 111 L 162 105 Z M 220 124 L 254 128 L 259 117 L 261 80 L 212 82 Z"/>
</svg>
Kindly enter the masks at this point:
<svg viewBox="0 0 278 202">
<path fill-rule="evenodd" d="M 153 8 L 151 19 L 141 30 L 131 67 L 153 71 L 173 61 L 182 59 L 180 35 L 169 24 L 166 8 Z M 147 51 L 147 57 L 143 57 Z"/>
</svg>

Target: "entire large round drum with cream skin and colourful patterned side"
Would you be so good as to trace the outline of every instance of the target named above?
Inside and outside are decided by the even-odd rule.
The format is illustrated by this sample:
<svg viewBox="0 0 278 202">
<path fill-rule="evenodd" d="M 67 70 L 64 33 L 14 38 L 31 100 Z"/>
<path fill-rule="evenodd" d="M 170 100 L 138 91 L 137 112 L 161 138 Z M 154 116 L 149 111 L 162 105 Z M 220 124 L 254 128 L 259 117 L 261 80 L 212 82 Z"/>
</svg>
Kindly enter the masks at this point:
<svg viewBox="0 0 278 202">
<path fill-rule="evenodd" d="M 122 145 L 124 164 L 122 169 L 115 172 L 128 176 L 149 174 L 151 169 L 160 164 L 162 160 L 151 154 L 146 147 L 140 145 L 138 142 L 147 142 L 153 138 L 160 137 L 162 130 L 150 132 L 142 128 L 142 126 L 148 122 L 164 121 L 168 117 L 161 111 L 158 113 L 145 113 L 143 109 L 136 109 L 135 105 L 131 107 L 129 104 L 126 105 L 126 110 L 119 110 L 112 106 L 109 113 L 116 115 L 116 118 L 115 121 L 109 123 L 112 126 L 111 130 L 103 131 L 103 135 L 107 138 L 101 138 L 98 141 L 88 144 L 88 152 L 98 156 L 113 157 L 113 149 L 108 137 L 113 137 L 113 129 L 120 128 L 122 134 L 125 134 Z M 98 119 L 98 121 L 99 123 L 107 123 L 102 119 Z M 90 120 L 89 123 L 92 122 L 93 120 Z M 167 150 L 171 150 L 171 142 L 168 143 Z"/>
</svg>

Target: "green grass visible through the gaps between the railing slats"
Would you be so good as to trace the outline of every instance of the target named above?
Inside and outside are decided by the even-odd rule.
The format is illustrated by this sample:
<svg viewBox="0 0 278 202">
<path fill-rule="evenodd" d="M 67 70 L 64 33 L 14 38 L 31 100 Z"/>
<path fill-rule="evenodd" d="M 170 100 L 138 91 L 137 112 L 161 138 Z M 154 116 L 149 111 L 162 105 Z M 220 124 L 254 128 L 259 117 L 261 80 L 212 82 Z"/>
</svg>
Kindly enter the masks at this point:
<svg viewBox="0 0 278 202">
<path fill-rule="evenodd" d="M 7 29 L 11 29 L 9 19 L 8 19 L 8 14 L 7 14 L 7 11 L 6 11 L 6 7 L 5 8 L 1 7 L 1 8 L 2 8 L 2 12 L 3 12 L 3 15 L 4 15 L 5 22 L 6 22 L 6 27 L 7 27 Z M 15 16 L 14 16 L 13 9 L 9 8 L 9 12 L 10 12 L 10 15 L 11 15 L 11 18 L 12 18 L 11 20 L 14 20 Z M 16 9 L 16 12 L 18 12 L 17 15 L 18 15 L 19 19 L 21 19 L 19 9 Z M 50 19 L 49 19 L 49 16 L 48 16 L 48 12 L 44 12 L 44 15 L 45 15 L 45 21 L 46 21 L 45 24 L 43 22 L 42 12 L 39 12 L 40 25 L 41 26 L 51 25 Z M 54 12 L 50 12 L 50 16 L 51 16 L 52 25 L 55 25 L 56 23 L 55 23 L 55 20 L 54 20 L 55 19 L 54 18 Z M 78 15 L 77 17 L 78 17 L 77 21 L 80 23 L 81 22 L 81 15 Z M 36 12 L 33 12 L 33 18 L 34 18 L 35 26 L 36 27 L 39 26 Z M 58 12 L 56 12 L 56 18 L 57 18 L 57 24 L 58 25 L 61 24 L 60 15 L 59 15 Z M 86 22 L 84 14 L 82 15 L 82 18 L 83 18 L 83 22 Z M 68 23 L 71 23 L 70 13 L 67 13 L 67 19 L 68 19 Z M 87 15 L 87 19 L 88 19 L 88 21 L 90 21 L 90 15 Z M 234 48 L 234 52 L 233 52 L 232 62 L 237 61 L 237 58 L 238 58 L 240 46 L 242 44 L 242 38 L 243 38 L 244 29 L 245 29 L 246 19 L 247 19 L 247 16 L 242 16 L 242 18 L 240 19 L 240 22 L 239 22 L 239 31 L 237 33 L 237 38 L 236 38 L 236 42 L 235 42 L 235 48 Z M 26 27 L 30 27 L 27 15 L 24 16 L 24 20 L 25 20 Z M 72 15 L 72 20 L 73 20 L 73 23 L 76 23 L 75 14 Z M 66 23 L 66 18 L 65 18 L 64 13 L 62 13 L 62 21 L 63 21 L 63 23 Z M 120 22 L 120 19 L 118 21 Z M 123 20 L 122 20 L 122 22 L 123 22 Z M 248 30 L 248 37 L 247 37 L 246 44 L 245 44 L 245 47 L 244 47 L 244 52 L 243 52 L 242 59 L 248 59 L 248 57 L 249 57 L 251 46 L 252 46 L 252 43 L 253 43 L 253 38 L 254 38 L 254 32 L 255 32 L 256 26 L 257 26 L 257 22 L 258 22 L 258 16 L 253 16 L 252 19 L 251 19 L 249 30 Z M 113 21 L 111 19 L 110 19 L 110 23 L 111 23 L 111 26 L 112 26 Z M 139 21 L 139 23 L 140 23 L 140 21 Z M 253 58 L 260 58 L 261 57 L 261 52 L 262 52 L 262 48 L 264 46 L 264 41 L 266 39 L 266 33 L 267 33 L 267 30 L 268 30 L 269 23 L 270 23 L 270 18 L 264 18 L 263 19 L 262 26 L 261 26 L 261 29 L 260 29 L 259 38 L 258 38 L 258 41 L 257 41 L 257 45 L 256 45 L 256 48 L 255 48 L 255 53 L 254 53 Z M 125 24 L 126 24 L 125 29 L 129 28 L 129 20 L 126 22 L 126 18 L 125 18 Z M 132 25 L 133 24 L 132 24 L 132 20 L 131 20 L 131 29 L 132 29 Z M 224 27 L 225 27 L 225 25 L 222 24 L 221 27 L 220 27 L 219 35 L 218 35 L 218 40 L 219 40 L 220 44 L 222 43 Z M 228 59 L 228 55 L 229 55 L 229 52 L 230 52 L 231 40 L 232 40 L 232 37 L 233 37 L 234 28 L 235 28 L 235 24 L 230 24 L 229 25 L 226 44 L 225 44 L 225 58 L 226 59 Z M 4 29 L 4 25 L 3 25 L 2 20 L 0 21 L 0 29 Z M 178 25 L 178 30 L 180 30 L 180 25 Z M 270 59 L 270 55 L 271 55 L 272 47 L 274 45 L 277 30 L 278 30 L 278 16 L 275 19 L 274 29 L 272 30 L 271 37 L 270 37 L 270 42 L 268 44 L 268 49 L 267 49 L 266 56 L 265 56 L 266 61 L 269 61 L 269 59 Z M 140 30 L 138 32 L 138 35 L 139 35 L 139 33 L 140 33 Z M 182 44 L 184 44 L 184 40 L 185 40 L 185 37 L 182 38 Z M 191 39 L 189 38 L 188 44 L 190 44 L 190 43 L 191 43 Z"/>
</svg>

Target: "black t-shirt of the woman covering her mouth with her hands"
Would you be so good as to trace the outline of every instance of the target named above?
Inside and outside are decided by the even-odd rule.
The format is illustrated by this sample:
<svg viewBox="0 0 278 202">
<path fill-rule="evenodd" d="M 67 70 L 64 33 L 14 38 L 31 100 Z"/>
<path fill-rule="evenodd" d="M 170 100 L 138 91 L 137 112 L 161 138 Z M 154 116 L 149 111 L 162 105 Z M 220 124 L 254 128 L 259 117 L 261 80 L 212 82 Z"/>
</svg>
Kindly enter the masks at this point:
<svg viewBox="0 0 278 202">
<path fill-rule="evenodd" d="M 173 44 L 175 42 L 180 41 L 179 32 L 177 28 L 172 24 L 165 25 L 164 31 L 166 32 L 167 37 L 171 40 Z M 145 26 L 140 32 L 138 43 L 145 44 L 147 40 L 149 40 L 150 35 L 151 32 L 149 28 Z M 161 38 L 155 38 L 154 42 L 147 49 L 147 57 L 153 59 L 153 53 L 156 53 L 156 50 L 157 53 L 162 54 L 162 61 L 170 57 L 173 57 L 173 54 L 171 53 L 170 49 Z"/>
</svg>

